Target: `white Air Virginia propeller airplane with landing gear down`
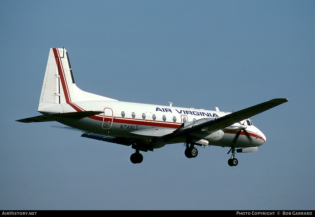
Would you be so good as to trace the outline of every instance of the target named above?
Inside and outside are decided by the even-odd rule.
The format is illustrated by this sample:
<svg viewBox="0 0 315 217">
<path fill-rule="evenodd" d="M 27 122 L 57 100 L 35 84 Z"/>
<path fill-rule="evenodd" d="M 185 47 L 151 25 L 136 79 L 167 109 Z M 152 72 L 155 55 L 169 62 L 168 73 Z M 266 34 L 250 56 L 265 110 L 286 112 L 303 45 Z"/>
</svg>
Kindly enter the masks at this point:
<svg viewBox="0 0 315 217">
<path fill-rule="evenodd" d="M 236 112 L 122 102 L 79 89 L 73 78 L 68 52 L 51 48 L 37 111 L 42 115 L 16 120 L 22 123 L 56 121 L 54 126 L 81 131 L 81 137 L 135 149 L 131 163 L 141 163 L 147 152 L 167 144 L 184 143 L 184 154 L 195 158 L 195 146 L 229 147 L 229 166 L 238 165 L 236 152 L 256 152 L 266 136 L 249 117 L 281 105 L 272 99 Z"/>
</svg>

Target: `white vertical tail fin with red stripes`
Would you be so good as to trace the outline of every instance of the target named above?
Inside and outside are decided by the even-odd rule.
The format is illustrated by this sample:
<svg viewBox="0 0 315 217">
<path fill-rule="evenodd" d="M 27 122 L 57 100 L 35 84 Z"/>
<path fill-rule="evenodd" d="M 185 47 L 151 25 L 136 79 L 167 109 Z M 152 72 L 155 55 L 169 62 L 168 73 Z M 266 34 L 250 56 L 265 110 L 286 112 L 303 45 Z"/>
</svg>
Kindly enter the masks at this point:
<svg viewBox="0 0 315 217">
<path fill-rule="evenodd" d="M 51 48 L 40 95 L 38 111 L 58 104 L 85 100 L 113 100 L 79 89 L 74 83 L 72 69 L 65 48 Z M 116 101 L 116 100 L 115 100 Z"/>
</svg>

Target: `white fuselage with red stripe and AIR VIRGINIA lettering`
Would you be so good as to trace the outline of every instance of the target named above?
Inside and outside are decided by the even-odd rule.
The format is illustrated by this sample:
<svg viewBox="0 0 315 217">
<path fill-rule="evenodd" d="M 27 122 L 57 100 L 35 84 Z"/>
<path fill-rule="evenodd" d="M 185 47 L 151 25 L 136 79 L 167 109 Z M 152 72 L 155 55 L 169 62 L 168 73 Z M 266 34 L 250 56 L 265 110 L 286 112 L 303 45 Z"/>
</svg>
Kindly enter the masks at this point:
<svg viewBox="0 0 315 217">
<path fill-rule="evenodd" d="M 73 111 L 103 111 L 104 113 L 82 119 L 57 118 L 54 119 L 67 126 L 101 135 L 116 137 L 140 138 L 149 142 L 153 137 L 172 133 L 182 123 L 192 122 L 202 118 L 222 117 L 229 112 L 209 111 L 203 109 L 180 108 L 173 106 L 149 105 L 122 101 L 79 101 L 58 104 L 50 107 L 49 112 L 40 111 L 45 115 L 49 113 L 65 113 Z M 248 120 L 248 119 L 247 119 Z M 234 147 L 255 147 L 266 141 L 265 135 L 246 120 L 241 122 L 247 126 L 251 140 L 241 133 Z M 224 131 L 224 130 L 223 130 Z M 236 132 L 224 132 L 219 140 L 211 140 L 204 135 L 202 145 L 230 147 Z M 192 135 L 193 136 L 193 135 Z M 198 135 L 200 138 L 200 134 Z M 182 141 L 185 142 L 185 141 Z M 201 143 L 200 143 L 201 144 Z"/>
</svg>

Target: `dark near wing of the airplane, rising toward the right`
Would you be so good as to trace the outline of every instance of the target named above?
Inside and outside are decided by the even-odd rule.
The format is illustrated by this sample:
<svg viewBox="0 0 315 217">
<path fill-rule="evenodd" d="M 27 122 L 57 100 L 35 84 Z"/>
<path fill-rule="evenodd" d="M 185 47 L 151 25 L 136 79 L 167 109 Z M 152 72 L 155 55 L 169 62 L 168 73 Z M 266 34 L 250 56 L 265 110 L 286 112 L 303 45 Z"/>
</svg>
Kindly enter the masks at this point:
<svg viewBox="0 0 315 217">
<path fill-rule="evenodd" d="M 267 111 L 273 107 L 279 106 L 289 100 L 286 98 L 278 98 L 269 100 L 267 102 L 260 103 L 255 106 L 251 106 L 249 108 L 245 108 L 240 111 L 236 111 L 230 113 L 226 116 L 215 118 L 215 119 L 207 119 L 204 118 L 203 121 L 197 120 L 186 127 L 178 128 L 174 132 L 170 134 L 166 134 L 151 140 L 151 144 L 158 143 L 160 141 L 169 141 L 169 140 L 176 140 L 178 137 L 186 136 L 189 133 L 200 133 L 201 130 L 205 130 L 207 132 L 215 132 L 217 130 L 226 128 L 234 123 L 240 122 L 245 120 L 249 117 L 257 115 L 261 112 Z M 202 120 L 202 119 L 201 119 Z M 199 121 L 199 122 L 198 122 Z"/>
</svg>

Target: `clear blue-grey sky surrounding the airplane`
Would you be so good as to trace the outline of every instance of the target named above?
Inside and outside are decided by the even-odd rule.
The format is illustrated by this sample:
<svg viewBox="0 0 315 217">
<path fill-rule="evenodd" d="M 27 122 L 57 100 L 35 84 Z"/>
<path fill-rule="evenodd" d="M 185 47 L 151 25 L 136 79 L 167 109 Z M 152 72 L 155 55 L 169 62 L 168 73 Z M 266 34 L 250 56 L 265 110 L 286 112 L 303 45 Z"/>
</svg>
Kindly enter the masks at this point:
<svg viewBox="0 0 315 217">
<path fill-rule="evenodd" d="M 0 1 L 0 209 L 314 209 L 314 1 Z M 237 111 L 254 153 L 131 147 L 14 120 L 36 111 L 49 49 L 77 86 L 120 101 Z"/>
</svg>

